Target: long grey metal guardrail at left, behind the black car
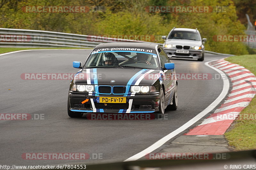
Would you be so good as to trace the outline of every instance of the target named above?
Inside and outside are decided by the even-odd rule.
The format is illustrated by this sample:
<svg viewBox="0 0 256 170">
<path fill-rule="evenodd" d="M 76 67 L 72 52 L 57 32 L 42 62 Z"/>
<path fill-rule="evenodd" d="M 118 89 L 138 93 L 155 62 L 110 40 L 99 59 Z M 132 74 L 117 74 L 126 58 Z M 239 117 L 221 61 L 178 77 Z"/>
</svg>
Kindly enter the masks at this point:
<svg viewBox="0 0 256 170">
<path fill-rule="evenodd" d="M 0 47 L 27 47 L 27 48 L 49 48 L 49 47 L 77 47 L 94 48 L 100 43 L 107 42 L 146 42 L 128 39 L 117 39 L 93 35 L 80 35 L 72 33 L 60 33 L 52 31 L 26 30 L 0 28 L 0 36 L 4 35 L 10 41 L 2 41 Z M 12 38 L 10 37 L 12 35 Z M 15 38 L 16 36 L 16 38 Z M 17 38 L 17 36 L 19 38 Z M 17 41 L 18 40 L 18 41 Z M 154 43 L 162 45 L 161 43 Z"/>
</svg>

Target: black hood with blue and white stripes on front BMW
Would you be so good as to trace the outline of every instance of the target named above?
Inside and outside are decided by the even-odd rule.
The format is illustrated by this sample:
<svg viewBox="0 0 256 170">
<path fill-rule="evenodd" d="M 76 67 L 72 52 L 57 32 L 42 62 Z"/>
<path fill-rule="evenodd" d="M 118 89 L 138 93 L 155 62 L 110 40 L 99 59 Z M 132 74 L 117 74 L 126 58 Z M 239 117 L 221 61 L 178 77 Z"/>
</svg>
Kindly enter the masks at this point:
<svg viewBox="0 0 256 170">
<path fill-rule="evenodd" d="M 92 85 L 152 85 L 162 71 L 130 68 L 84 69 L 74 77 L 75 84 Z M 110 81 L 115 82 L 111 83 Z M 153 81 L 155 80 L 155 81 Z"/>
</svg>

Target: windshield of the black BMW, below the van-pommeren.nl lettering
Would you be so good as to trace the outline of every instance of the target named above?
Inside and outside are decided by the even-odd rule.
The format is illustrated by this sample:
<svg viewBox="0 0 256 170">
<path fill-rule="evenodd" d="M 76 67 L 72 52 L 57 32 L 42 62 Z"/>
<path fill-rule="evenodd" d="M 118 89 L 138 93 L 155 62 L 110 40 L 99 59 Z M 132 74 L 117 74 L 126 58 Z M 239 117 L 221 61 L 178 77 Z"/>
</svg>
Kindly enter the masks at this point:
<svg viewBox="0 0 256 170">
<path fill-rule="evenodd" d="M 134 48 L 138 49 L 138 48 Z M 85 63 L 86 68 L 100 67 L 131 67 L 142 69 L 157 69 L 158 58 L 152 49 L 144 51 L 101 51 L 94 49 Z"/>
</svg>

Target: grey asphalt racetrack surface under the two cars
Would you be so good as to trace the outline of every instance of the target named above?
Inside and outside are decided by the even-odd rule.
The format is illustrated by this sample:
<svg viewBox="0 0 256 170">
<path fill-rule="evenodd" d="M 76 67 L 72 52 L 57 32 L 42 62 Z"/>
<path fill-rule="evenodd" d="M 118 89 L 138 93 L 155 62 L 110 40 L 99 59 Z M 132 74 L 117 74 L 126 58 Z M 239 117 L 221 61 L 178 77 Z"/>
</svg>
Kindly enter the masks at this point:
<svg viewBox="0 0 256 170">
<path fill-rule="evenodd" d="M 188 122 L 209 106 L 222 90 L 223 81 L 220 76 L 204 63 L 224 56 L 205 53 L 203 62 L 173 59 L 171 61 L 175 63 L 176 73 L 208 73 L 216 79 L 178 80 L 178 109 L 166 111 L 166 120 L 102 121 L 88 120 L 85 116 L 68 117 L 70 80 L 21 78 L 23 73 L 76 73 L 78 69 L 72 67 L 72 62 L 84 63 L 90 52 L 91 50 L 38 50 L 0 56 L 0 113 L 43 116 L 41 120 L 0 120 L 1 165 L 124 161 Z M 199 123 L 200 121 L 189 129 Z M 99 153 L 102 157 L 85 161 L 26 160 L 22 157 L 24 153 Z"/>
</svg>

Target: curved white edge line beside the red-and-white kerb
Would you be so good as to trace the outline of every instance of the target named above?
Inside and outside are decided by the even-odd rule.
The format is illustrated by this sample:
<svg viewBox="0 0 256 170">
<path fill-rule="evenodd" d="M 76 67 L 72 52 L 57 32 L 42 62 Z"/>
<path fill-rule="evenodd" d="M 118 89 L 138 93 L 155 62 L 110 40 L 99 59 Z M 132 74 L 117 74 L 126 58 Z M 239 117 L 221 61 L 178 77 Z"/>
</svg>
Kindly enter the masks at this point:
<svg viewBox="0 0 256 170">
<path fill-rule="evenodd" d="M 212 61 L 216 61 L 216 60 L 212 60 Z M 230 86 L 229 85 L 229 79 L 228 79 L 227 75 L 223 71 L 221 71 L 221 70 L 219 70 L 219 69 L 209 65 L 209 63 L 212 62 L 212 61 L 206 62 L 204 64 L 206 66 L 212 68 L 213 70 L 216 70 L 218 73 L 225 75 L 225 78 L 223 78 L 223 89 L 222 89 L 220 95 L 208 107 L 206 107 L 202 112 L 200 112 L 198 115 L 193 117 L 191 120 L 189 120 L 187 123 L 182 125 L 180 128 L 178 128 L 178 129 L 174 130 L 173 132 L 169 133 L 165 137 L 163 137 L 160 140 L 158 140 L 156 143 L 154 143 L 151 146 L 149 146 L 148 148 L 144 149 L 143 151 L 141 151 L 141 152 L 131 156 L 128 159 L 125 159 L 124 162 L 138 160 L 138 159 L 142 158 L 143 156 L 147 155 L 148 153 L 153 152 L 154 150 L 156 150 L 157 148 L 162 146 L 165 142 L 167 142 L 171 138 L 175 137 L 176 135 L 178 135 L 182 131 L 188 129 L 195 122 L 197 122 L 202 117 L 204 117 L 206 114 L 211 112 L 212 109 L 214 109 L 226 97 L 226 95 L 228 94 L 229 86 Z"/>
</svg>

